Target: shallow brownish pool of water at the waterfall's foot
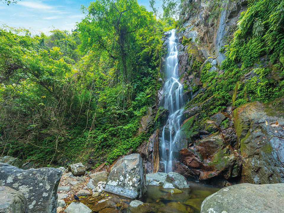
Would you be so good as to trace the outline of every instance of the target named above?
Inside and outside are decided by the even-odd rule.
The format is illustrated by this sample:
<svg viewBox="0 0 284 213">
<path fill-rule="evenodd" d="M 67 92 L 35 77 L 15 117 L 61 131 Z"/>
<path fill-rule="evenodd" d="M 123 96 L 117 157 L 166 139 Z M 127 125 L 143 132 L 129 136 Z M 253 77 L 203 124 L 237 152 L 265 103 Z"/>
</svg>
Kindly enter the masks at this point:
<svg viewBox="0 0 284 213">
<path fill-rule="evenodd" d="M 147 192 L 140 201 L 143 205 L 136 208 L 130 207 L 132 199 L 103 192 L 100 196 L 82 196 L 80 202 L 88 206 L 93 212 L 99 213 L 199 213 L 202 201 L 220 188 L 190 182 L 191 188 L 180 189 L 182 193 L 171 194 L 170 188 L 162 186 L 147 186 Z M 67 206 L 74 202 L 73 199 L 64 199 Z"/>
</svg>

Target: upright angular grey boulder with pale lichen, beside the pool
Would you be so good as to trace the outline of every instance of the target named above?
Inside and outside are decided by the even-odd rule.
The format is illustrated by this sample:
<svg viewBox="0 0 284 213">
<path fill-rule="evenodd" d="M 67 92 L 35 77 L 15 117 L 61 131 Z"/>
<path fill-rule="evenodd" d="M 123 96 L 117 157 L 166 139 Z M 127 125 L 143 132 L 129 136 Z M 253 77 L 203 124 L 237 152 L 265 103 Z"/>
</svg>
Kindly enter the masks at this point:
<svg viewBox="0 0 284 213">
<path fill-rule="evenodd" d="M 146 192 L 143 162 L 140 154 L 118 160 L 106 179 L 105 191 L 131 199 L 139 199 Z"/>
</svg>

